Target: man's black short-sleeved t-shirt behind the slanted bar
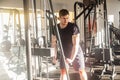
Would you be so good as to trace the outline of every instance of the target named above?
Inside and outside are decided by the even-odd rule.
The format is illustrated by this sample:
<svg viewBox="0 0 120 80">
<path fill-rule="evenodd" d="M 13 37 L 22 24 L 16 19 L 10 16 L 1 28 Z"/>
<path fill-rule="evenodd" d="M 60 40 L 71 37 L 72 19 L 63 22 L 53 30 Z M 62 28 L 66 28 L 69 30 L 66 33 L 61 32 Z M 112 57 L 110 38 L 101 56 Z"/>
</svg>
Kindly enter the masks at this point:
<svg viewBox="0 0 120 80">
<path fill-rule="evenodd" d="M 78 26 L 70 22 L 68 23 L 67 27 L 63 29 L 60 28 L 60 24 L 58 24 L 57 26 L 58 26 L 65 57 L 69 58 L 72 51 L 72 46 L 73 46 L 72 35 L 79 33 Z M 53 32 L 53 35 L 55 35 L 55 32 Z"/>
</svg>

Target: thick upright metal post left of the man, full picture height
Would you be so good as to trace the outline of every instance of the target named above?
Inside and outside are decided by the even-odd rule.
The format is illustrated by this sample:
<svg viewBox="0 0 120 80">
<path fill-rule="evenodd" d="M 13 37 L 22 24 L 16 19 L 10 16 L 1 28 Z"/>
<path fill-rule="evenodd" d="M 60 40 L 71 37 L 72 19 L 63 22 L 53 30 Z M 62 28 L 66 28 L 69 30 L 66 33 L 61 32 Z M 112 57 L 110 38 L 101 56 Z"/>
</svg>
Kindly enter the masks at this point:
<svg viewBox="0 0 120 80">
<path fill-rule="evenodd" d="M 26 41 L 26 62 L 27 62 L 27 80 L 32 79 L 32 64 L 31 64 L 31 40 L 29 34 L 29 0 L 23 0 L 24 6 L 24 23 L 25 23 L 25 41 Z"/>
</svg>

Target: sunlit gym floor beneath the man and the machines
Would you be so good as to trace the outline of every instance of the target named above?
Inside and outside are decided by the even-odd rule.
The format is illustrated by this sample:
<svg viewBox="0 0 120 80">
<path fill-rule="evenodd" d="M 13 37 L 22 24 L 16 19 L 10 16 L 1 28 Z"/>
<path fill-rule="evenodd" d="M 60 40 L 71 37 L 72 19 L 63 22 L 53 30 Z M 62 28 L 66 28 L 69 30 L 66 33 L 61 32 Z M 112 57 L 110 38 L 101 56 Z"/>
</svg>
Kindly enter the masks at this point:
<svg viewBox="0 0 120 80">
<path fill-rule="evenodd" d="M 20 49 L 20 50 L 19 50 Z M 25 64 L 25 55 L 20 55 L 18 57 L 18 52 L 24 53 L 23 48 L 17 47 L 16 49 L 12 49 L 12 51 L 8 52 L 0 52 L 0 80 L 27 80 L 26 78 L 26 64 Z M 22 57 L 21 57 L 22 56 Z M 92 65 L 93 66 L 93 65 Z M 37 74 L 33 72 L 34 80 L 59 80 L 60 70 L 59 63 L 53 65 L 51 63 L 48 64 L 48 68 L 46 63 L 43 63 L 42 73 Z M 88 80 L 99 80 L 101 70 L 104 68 L 102 65 L 94 65 L 93 67 L 86 67 L 86 71 L 88 74 Z M 113 80 L 120 80 L 120 65 L 115 65 L 115 77 Z M 35 69 L 35 68 L 33 68 Z M 47 72 L 47 69 L 49 73 Z M 112 67 L 109 66 L 109 70 L 112 70 Z M 37 74 L 34 75 L 34 74 Z M 40 75 L 42 76 L 40 77 Z M 71 80 L 79 80 L 78 72 L 74 71 L 72 67 L 70 67 L 69 75 Z M 92 76 L 92 77 L 91 77 Z M 48 78 L 47 78 L 48 77 Z M 111 74 L 103 74 L 100 80 L 111 80 Z"/>
</svg>

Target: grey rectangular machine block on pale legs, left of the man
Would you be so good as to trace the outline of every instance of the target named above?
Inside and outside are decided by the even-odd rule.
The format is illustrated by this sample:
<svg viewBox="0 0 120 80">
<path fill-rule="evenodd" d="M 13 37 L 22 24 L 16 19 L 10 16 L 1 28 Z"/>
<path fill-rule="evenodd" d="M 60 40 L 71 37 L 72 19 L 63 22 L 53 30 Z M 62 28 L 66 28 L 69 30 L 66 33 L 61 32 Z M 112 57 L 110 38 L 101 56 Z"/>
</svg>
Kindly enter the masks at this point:
<svg viewBox="0 0 120 80">
<path fill-rule="evenodd" d="M 38 58 L 38 76 L 40 76 L 42 78 L 42 63 L 46 63 L 46 69 L 47 69 L 47 79 L 49 80 L 49 66 L 48 63 L 50 63 L 50 58 L 52 58 L 54 56 L 54 48 L 32 48 L 32 55 L 34 57 Z M 44 60 L 45 58 L 45 60 Z M 36 63 L 35 63 L 36 64 Z M 37 67 L 37 66 L 35 66 Z"/>
</svg>

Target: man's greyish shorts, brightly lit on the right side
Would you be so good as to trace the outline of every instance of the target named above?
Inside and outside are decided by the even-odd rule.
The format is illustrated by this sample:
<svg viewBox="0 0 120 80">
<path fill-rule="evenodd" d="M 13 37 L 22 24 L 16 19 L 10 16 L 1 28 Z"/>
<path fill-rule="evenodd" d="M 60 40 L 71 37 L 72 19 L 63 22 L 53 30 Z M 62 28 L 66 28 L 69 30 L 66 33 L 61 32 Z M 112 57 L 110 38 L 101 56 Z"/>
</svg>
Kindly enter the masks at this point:
<svg viewBox="0 0 120 80">
<path fill-rule="evenodd" d="M 78 54 L 75 57 L 75 60 L 72 62 L 72 66 L 76 71 L 85 68 L 84 55 L 81 48 L 79 49 Z M 65 68 L 65 64 L 64 64 L 63 58 L 61 57 L 60 69 L 63 69 L 63 68 Z"/>
</svg>

